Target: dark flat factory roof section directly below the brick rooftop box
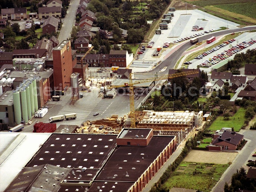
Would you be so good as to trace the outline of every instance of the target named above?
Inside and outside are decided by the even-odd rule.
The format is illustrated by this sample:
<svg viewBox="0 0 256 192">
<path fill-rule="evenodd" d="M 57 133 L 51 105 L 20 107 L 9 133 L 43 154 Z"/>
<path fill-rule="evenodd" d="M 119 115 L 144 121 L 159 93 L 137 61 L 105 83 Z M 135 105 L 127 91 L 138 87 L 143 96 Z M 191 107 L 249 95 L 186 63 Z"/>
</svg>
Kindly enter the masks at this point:
<svg viewBox="0 0 256 192">
<path fill-rule="evenodd" d="M 174 136 L 153 136 L 147 146 L 120 146 L 95 180 L 137 181 L 173 138 Z"/>
</svg>

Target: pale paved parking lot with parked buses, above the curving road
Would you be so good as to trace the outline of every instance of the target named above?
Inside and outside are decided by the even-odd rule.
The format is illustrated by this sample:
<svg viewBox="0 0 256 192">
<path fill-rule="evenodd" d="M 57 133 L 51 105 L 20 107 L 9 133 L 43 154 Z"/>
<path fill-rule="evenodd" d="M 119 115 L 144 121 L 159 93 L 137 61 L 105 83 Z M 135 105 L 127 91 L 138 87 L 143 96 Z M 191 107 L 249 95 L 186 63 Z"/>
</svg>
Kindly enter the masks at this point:
<svg viewBox="0 0 256 192">
<path fill-rule="evenodd" d="M 204 27 L 204 30 L 200 31 L 191 31 L 193 26 L 198 25 L 199 27 Z M 194 35 L 197 33 L 204 33 L 204 31 L 209 31 L 211 29 L 218 30 L 220 27 L 228 27 L 229 29 L 238 28 L 239 24 L 230 22 L 200 10 L 177 10 L 174 11 L 174 17 L 172 17 L 171 23 L 168 24 L 167 30 L 161 30 L 162 34 L 155 34 L 151 41 L 154 41 L 154 45 L 152 48 L 146 48 L 145 53 L 140 55 L 138 60 L 134 60 L 134 65 L 132 65 L 132 69 L 134 71 L 140 71 L 140 68 L 144 70 L 151 70 L 153 65 L 137 65 L 141 64 L 140 61 L 163 61 L 164 57 L 171 52 L 174 48 L 167 48 L 161 55 L 160 58 L 153 58 L 152 55 L 155 53 L 155 50 L 158 46 L 163 46 L 165 42 L 171 43 L 174 40 L 178 40 L 180 38 L 189 37 L 190 35 Z M 186 40 L 189 41 L 189 40 Z M 179 43 L 175 43 L 176 46 Z M 142 63 L 143 64 L 143 63 Z M 145 63 L 148 64 L 148 63 Z"/>
</svg>

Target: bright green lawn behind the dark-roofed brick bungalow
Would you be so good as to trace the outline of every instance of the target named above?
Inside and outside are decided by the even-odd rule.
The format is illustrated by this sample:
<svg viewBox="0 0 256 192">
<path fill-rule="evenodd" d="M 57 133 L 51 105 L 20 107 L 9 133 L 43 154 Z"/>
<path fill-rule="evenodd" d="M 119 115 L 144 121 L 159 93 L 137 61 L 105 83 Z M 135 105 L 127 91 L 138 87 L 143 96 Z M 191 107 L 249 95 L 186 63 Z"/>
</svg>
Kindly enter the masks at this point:
<svg viewBox="0 0 256 192">
<path fill-rule="evenodd" d="M 240 131 L 242 125 L 244 124 L 245 109 L 240 107 L 236 114 L 233 117 L 230 117 L 229 120 L 223 119 L 223 117 L 219 116 L 217 119 L 211 124 L 209 127 L 210 131 L 220 130 L 222 127 L 234 127 L 234 131 Z"/>
</svg>

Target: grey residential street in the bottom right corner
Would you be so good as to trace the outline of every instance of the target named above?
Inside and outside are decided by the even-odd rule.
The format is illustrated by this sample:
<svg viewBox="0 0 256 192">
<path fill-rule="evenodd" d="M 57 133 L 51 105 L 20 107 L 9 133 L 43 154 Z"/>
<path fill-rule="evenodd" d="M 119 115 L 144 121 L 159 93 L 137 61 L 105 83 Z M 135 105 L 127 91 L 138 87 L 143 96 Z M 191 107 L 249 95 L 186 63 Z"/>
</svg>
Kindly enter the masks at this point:
<svg viewBox="0 0 256 192">
<path fill-rule="evenodd" d="M 239 170 L 244 164 L 247 164 L 248 158 L 252 157 L 251 154 L 252 152 L 254 152 L 255 146 L 256 146 L 256 139 L 255 139 L 256 130 L 244 130 L 240 134 L 243 134 L 244 138 L 249 141 L 246 143 L 243 149 L 239 151 L 239 154 L 233 160 L 231 166 L 227 169 L 227 171 L 223 173 L 223 178 L 222 177 L 220 178 L 220 182 L 217 183 L 217 185 L 212 190 L 212 192 L 223 192 L 225 182 L 230 183 L 231 177 L 234 173 L 237 172 L 237 169 Z"/>
</svg>

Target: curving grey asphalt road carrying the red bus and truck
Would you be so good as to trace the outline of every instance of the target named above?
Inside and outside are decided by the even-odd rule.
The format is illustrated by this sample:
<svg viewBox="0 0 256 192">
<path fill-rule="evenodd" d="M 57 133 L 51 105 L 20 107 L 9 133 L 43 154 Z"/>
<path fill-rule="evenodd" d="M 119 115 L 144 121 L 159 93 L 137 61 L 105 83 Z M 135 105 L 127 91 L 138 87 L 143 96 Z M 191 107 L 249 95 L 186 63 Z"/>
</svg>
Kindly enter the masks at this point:
<svg viewBox="0 0 256 192">
<path fill-rule="evenodd" d="M 229 33 L 233 33 L 233 32 L 240 32 L 240 31 L 247 31 L 247 30 L 255 30 L 256 27 L 244 27 L 244 28 L 239 28 L 239 29 L 229 29 L 229 30 L 221 30 L 221 31 L 217 31 L 214 33 L 210 33 L 204 36 L 199 36 L 199 42 L 200 41 L 204 41 L 209 39 L 212 36 L 220 36 L 220 35 L 226 35 Z M 184 43 L 178 50 L 176 50 L 173 54 L 171 54 L 167 59 L 165 59 L 162 63 L 160 63 L 157 67 L 155 67 L 153 70 L 148 71 L 148 72 L 143 72 L 144 74 L 154 74 L 157 71 L 159 71 L 160 69 L 163 69 L 165 66 L 167 66 L 167 69 L 162 72 L 161 74 L 168 74 L 169 69 L 173 69 L 174 66 L 176 65 L 177 61 L 179 60 L 179 58 L 181 57 L 181 55 L 189 48 L 191 47 L 190 42 L 188 41 L 187 43 Z M 160 68 L 161 67 L 161 68 Z M 148 75 L 143 75 L 140 72 L 134 73 L 134 76 L 140 76 L 140 78 L 146 78 L 148 77 Z"/>
</svg>

